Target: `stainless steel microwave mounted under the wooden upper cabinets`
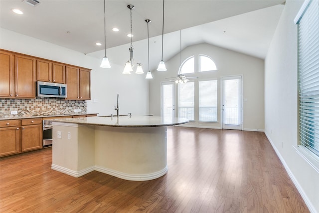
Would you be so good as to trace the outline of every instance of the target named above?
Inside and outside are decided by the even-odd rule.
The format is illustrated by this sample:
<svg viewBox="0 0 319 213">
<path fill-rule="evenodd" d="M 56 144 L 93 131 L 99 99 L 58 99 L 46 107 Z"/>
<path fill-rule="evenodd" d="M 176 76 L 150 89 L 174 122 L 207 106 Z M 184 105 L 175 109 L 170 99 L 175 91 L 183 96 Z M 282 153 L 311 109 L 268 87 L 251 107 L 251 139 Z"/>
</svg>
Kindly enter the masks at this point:
<svg viewBox="0 0 319 213">
<path fill-rule="evenodd" d="M 36 82 L 37 97 L 66 98 L 66 84 Z"/>
</svg>

